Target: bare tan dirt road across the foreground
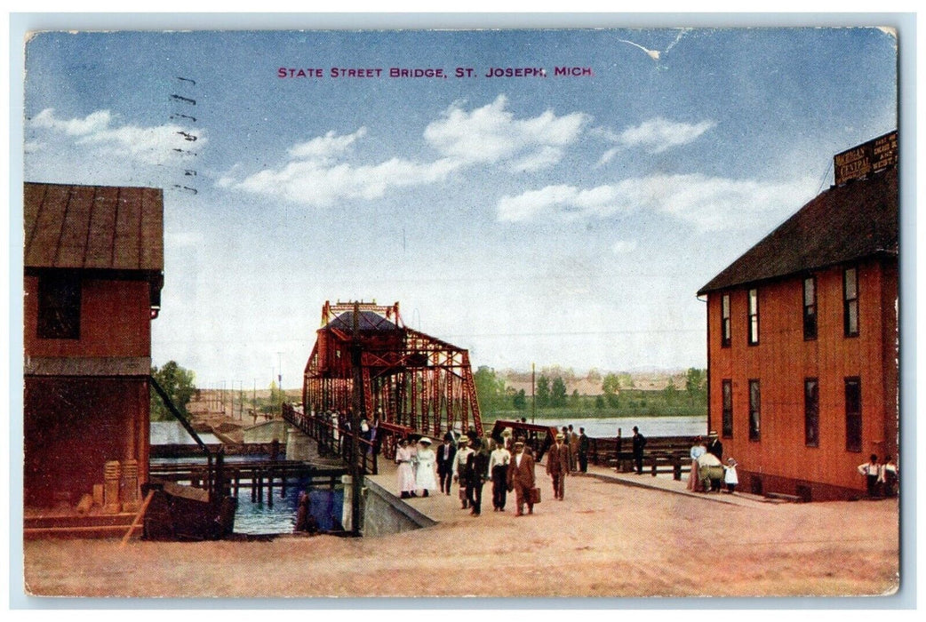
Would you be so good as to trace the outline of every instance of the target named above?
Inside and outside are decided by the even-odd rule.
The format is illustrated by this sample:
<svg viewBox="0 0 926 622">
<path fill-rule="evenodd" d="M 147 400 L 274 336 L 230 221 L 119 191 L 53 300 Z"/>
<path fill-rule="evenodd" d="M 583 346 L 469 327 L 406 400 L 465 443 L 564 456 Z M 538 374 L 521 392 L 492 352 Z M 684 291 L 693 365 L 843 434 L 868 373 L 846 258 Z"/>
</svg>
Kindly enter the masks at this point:
<svg viewBox="0 0 926 622">
<path fill-rule="evenodd" d="M 24 543 L 31 593 L 48 596 L 843 596 L 898 585 L 896 501 L 716 503 L 592 477 L 532 516 L 441 504 L 432 528 L 383 538 Z M 645 486 L 649 476 L 638 476 Z M 496 572 L 493 568 L 503 567 Z"/>
</svg>

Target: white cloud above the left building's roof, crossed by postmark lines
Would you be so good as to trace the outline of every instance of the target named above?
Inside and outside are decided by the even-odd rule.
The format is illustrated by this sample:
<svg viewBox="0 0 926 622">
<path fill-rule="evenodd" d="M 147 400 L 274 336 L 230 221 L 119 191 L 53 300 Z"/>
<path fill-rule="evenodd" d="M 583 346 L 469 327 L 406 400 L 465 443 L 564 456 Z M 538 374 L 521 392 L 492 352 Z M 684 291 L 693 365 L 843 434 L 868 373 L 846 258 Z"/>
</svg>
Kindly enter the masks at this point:
<svg viewBox="0 0 926 622">
<path fill-rule="evenodd" d="M 83 157 L 89 155 L 101 161 L 119 163 L 119 166 L 124 166 L 126 159 L 143 165 L 168 164 L 183 157 L 185 152 L 201 150 L 207 142 L 204 131 L 193 132 L 175 124 L 151 127 L 117 125 L 108 110 L 97 110 L 84 118 L 68 119 L 57 118 L 53 108 L 45 108 L 31 118 L 28 127 L 33 132 L 41 132 L 45 141 L 51 143 L 52 146 L 43 145 L 43 151 L 60 153 L 79 147 Z"/>
</svg>

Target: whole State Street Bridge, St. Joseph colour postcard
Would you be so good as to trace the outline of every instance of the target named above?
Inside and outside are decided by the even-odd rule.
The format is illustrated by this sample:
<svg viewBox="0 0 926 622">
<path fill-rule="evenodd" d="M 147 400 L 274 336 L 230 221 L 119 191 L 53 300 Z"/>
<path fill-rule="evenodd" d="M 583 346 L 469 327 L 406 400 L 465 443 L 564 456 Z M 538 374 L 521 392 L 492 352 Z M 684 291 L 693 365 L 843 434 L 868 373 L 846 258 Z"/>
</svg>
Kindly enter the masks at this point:
<svg viewBox="0 0 926 622">
<path fill-rule="evenodd" d="M 900 589 L 896 30 L 25 49 L 30 598 Z"/>
</svg>

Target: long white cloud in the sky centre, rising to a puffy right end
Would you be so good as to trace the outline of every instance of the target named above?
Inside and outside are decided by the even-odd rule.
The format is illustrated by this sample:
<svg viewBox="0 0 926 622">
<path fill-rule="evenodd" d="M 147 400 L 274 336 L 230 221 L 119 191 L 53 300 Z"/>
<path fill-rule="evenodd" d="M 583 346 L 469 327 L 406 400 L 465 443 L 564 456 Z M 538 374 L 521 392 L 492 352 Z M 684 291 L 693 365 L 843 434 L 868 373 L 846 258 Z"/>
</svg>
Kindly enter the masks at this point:
<svg viewBox="0 0 926 622">
<path fill-rule="evenodd" d="M 572 113 L 557 117 L 546 111 L 533 118 L 515 118 L 507 98 L 471 112 L 450 106 L 442 118 L 424 130 L 424 139 L 437 152 L 431 160 L 403 157 L 374 164 L 347 161 L 353 147 L 369 133 L 361 127 L 350 134 L 329 131 L 287 150 L 288 161 L 243 179 L 234 168 L 216 183 L 303 204 L 328 206 L 342 199 L 378 199 L 390 189 L 445 180 L 464 168 L 504 163 L 516 172 L 557 164 L 565 148 L 575 143 L 587 116 Z"/>
</svg>

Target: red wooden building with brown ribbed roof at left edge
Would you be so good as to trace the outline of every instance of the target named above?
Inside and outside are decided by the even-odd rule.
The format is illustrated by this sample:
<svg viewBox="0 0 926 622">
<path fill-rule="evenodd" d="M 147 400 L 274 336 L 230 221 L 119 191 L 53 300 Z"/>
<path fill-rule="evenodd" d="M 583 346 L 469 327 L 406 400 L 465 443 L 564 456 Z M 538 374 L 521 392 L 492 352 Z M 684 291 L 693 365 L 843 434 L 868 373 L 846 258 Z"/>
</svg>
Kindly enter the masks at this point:
<svg viewBox="0 0 926 622">
<path fill-rule="evenodd" d="M 163 205 L 154 188 L 25 184 L 27 508 L 76 504 L 107 461 L 147 479 Z"/>
</svg>

